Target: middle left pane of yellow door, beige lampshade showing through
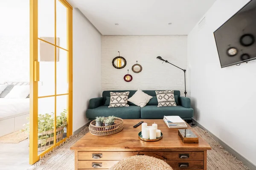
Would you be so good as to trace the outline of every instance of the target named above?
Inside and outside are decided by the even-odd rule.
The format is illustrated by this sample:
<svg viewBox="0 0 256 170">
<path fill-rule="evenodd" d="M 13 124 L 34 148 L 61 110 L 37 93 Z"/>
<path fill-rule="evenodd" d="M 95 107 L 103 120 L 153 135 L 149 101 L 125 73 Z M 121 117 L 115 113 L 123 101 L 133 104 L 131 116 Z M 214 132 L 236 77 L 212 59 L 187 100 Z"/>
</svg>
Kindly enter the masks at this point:
<svg viewBox="0 0 256 170">
<path fill-rule="evenodd" d="M 55 94 L 55 46 L 38 40 L 39 77 L 38 96 Z"/>
</svg>

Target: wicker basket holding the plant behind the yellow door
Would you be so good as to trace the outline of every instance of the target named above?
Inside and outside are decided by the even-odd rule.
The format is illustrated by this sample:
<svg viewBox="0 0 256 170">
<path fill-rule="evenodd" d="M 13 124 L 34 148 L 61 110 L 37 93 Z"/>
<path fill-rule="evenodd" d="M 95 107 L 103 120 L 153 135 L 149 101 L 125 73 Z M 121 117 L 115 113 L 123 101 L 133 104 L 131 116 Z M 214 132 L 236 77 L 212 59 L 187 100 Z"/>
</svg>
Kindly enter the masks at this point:
<svg viewBox="0 0 256 170">
<path fill-rule="evenodd" d="M 63 138 L 63 132 L 64 127 L 59 127 L 56 129 L 56 143 L 61 141 Z M 43 133 L 38 133 L 38 137 L 42 136 L 49 136 L 48 139 L 46 139 L 46 144 L 43 143 L 42 139 L 38 139 L 38 151 L 47 150 L 49 147 L 53 146 L 54 143 L 54 131 L 55 130 L 48 130 Z"/>
</svg>

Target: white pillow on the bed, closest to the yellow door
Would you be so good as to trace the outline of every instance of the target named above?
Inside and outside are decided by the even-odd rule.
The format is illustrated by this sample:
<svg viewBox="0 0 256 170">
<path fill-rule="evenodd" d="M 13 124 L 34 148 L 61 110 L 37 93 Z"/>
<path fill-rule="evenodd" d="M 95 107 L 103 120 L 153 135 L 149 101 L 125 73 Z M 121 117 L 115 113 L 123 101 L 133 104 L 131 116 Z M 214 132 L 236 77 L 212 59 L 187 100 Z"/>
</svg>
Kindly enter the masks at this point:
<svg viewBox="0 0 256 170">
<path fill-rule="evenodd" d="M 29 95 L 29 85 L 15 85 L 5 99 L 26 99 Z"/>
</svg>

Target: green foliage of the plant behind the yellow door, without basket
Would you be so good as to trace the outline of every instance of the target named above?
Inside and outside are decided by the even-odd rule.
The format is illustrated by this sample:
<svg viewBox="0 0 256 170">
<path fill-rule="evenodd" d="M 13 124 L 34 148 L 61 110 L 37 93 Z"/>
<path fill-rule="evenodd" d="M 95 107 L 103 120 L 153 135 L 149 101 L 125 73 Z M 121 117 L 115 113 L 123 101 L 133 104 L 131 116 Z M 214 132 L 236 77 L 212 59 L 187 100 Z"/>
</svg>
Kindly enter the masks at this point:
<svg viewBox="0 0 256 170">
<path fill-rule="evenodd" d="M 56 129 L 59 127 L 66 127 L 67 126 L 67 110 L 64 109 L 60 116 L 56 116 Z M 27 118 L 29 119 L 29 118 Z M 25 131 L 29 133 L 29 122 L 25 124 Z M 49 130 L 54 130 L 54 113 L 46 113 L 46 114 L 39 114 L 38 115 L 38 133 L 44 133 Z M 63 129 L 61 133 L 63 133 Z M 38 140 L 41 140 L 41 144 L 38 144 L 38 147 L 41 147 L 41 145 L 47 144 L 47 139 L 49 137 L 54 136 L 54 133 L 47 134 L 47 135 L 40 135 L 38 134 Z M 52 142 L 53 143 L 53 142 Z"/>
</svg>

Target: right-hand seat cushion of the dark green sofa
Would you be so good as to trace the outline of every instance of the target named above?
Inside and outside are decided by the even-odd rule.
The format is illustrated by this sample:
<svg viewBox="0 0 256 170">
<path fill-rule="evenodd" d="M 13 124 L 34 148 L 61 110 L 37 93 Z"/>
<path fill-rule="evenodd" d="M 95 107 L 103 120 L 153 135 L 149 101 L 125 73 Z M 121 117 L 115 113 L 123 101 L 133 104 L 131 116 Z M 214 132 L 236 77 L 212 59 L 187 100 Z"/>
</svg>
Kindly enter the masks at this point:
<svg viewBox="0 0 256 170">
<path fill-rule="evenodd" d="M 180 116 L 181 118 L 192 118 L 194 110 L 182 106 L 157 107 L 146 105 L 140 109 L 142 119 L 163 119 L 163 116 Z"/>
</svg>

